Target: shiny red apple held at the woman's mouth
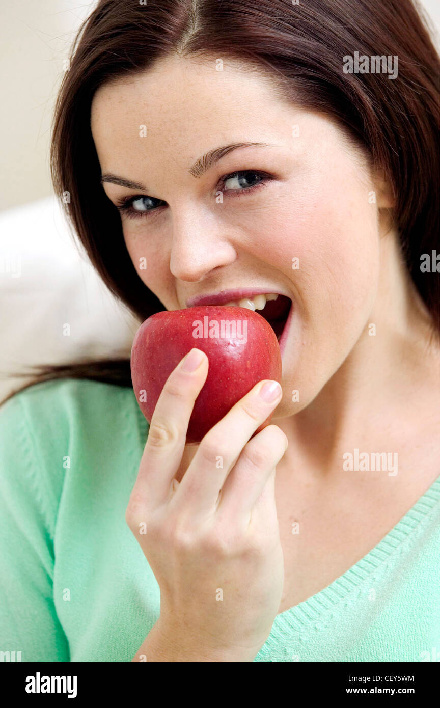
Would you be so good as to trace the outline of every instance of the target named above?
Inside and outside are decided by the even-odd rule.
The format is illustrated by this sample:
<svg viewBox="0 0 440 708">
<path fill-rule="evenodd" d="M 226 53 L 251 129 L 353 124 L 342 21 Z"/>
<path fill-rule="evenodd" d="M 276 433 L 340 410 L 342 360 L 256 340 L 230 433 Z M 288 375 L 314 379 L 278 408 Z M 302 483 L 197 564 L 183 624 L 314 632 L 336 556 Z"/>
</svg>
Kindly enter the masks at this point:
<svg viewBox="0 0 440 708">
<path fill-rule="evenodd" d="M 209 323 L 226 320 L 241 323 L 238 336 L 225 336 L 225 331 L 223 337 L 204 336 L 209 335 Z M 199 330 L 201 337 L 193 334 L 197 321 L 204 323 L 204 329 Z M 245 328 L 247 340 L 243 341 Z M 186 444 L 200 442 L 258 381 L 274 379 L 281 383 L 282 375 L 277 336 L 264 317 L 253 310 L 204 305 L 157 312 L 139 327 L 131 353 L 134 393 L 149 423 L 166 379 L 194 347 L 207 354 L 209 369 L 192 410 Z M 254 435 L 267 426 L 272 413 Z"/>
</svg>

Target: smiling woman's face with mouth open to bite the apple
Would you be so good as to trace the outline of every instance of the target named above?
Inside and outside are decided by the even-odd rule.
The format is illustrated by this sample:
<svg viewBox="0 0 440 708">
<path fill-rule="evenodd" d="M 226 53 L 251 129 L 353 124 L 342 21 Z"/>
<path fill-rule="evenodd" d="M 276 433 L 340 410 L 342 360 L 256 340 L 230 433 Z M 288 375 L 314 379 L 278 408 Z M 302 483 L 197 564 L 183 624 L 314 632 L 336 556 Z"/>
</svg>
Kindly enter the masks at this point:
<svg viewBox="0 0 440 708">
<path fill-rule="evenodd" d="M 307 406 L 366 336 L 381 249 L 376 187 L 328 118 L 282 101 L 247 67 L 218 63 L 166 59 L 101 87 L 93 139 L 103 175 L 137 183 L 103 188 L 115 205 L 136 198 L 121 212 L 125 243 L 166 309 L 229 290 L 291 299 L 281 418 Z M 265 145 L 192 168 L 241 142 Z"/>
</svg>

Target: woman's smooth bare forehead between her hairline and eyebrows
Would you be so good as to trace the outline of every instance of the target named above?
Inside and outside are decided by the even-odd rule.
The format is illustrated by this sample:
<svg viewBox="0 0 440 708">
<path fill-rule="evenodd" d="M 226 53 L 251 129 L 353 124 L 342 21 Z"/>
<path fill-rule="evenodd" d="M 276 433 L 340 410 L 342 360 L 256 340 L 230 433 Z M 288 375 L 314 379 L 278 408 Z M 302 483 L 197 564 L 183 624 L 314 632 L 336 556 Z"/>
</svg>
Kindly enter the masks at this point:
<svg viewBox="0 0 440 708">
<path fill-rule="evenodd" d="M 297 127 L 300 137 L 294 137 Z M 170 170 L 185 173 L 224 144 L 272 142 L 300 159 L 320 154 L 323 142 L 338 150 L 341 137 L 325 115 L 295 104 L 252 64 L 180 57 L 101 86 L 91 130 L 102 172 L 139 182 L 148 173 L 149 184 Z"/>
</svg>

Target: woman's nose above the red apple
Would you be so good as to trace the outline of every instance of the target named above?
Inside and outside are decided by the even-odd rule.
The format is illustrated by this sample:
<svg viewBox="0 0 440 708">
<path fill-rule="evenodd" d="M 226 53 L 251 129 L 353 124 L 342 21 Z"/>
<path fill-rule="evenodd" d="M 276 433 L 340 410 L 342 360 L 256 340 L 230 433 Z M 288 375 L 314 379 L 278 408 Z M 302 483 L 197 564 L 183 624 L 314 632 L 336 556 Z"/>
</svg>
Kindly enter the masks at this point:
<svg viewBox="0 0 440 708">
<path fill-rule="evenodd" d="M 170 271 L 175 278 L 198 282 L 236 257 L 226 227 L 212 213 L 186 207 L 173 218 Z"/>
</svg>

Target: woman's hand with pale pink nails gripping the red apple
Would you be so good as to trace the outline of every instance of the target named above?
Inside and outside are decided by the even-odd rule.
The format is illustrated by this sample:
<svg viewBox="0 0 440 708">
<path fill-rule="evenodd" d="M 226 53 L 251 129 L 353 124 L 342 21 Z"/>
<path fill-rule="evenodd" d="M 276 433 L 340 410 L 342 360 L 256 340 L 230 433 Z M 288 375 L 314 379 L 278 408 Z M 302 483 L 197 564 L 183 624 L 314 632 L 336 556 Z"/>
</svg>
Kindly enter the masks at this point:
<svg viewBox="0 0 440 708">
<path fill-rule="evenodd" d="M 274 425 L 250 437 L 282 389 L 257 383 L 204 436 L 179 483 L 187 425 L 207 372 L 207 355 L 193 349 L 168 377 L 126 520 L 161 588 L 155 631 L 162 645 L 168 639 L 188 661 L 253 661 L 282 597 L 274 482 L 287 439 Z M 271 385 L 269 402 L 260 394 Z"/>
</svg>

